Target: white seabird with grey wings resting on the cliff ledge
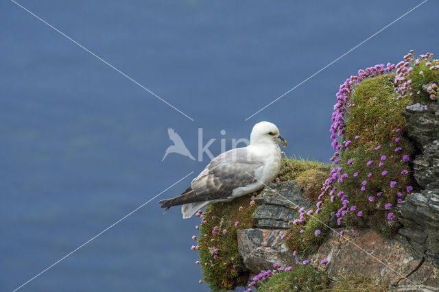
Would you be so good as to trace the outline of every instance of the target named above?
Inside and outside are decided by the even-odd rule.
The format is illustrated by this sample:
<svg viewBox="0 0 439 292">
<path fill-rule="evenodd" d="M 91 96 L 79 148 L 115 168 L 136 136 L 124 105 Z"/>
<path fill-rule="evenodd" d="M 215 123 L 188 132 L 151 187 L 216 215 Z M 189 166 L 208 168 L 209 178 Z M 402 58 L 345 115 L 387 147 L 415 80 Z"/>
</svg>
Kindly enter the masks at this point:
<svg viewBox="0 0 439 292">
<path fill-rule="evenodd" d="M 274 123 L 257 123 L 250 134 L 250 145 L 219 154 L 192 180 L 186 191 L 158 203 L 167 209 L 183 205 L 181 212 L 186 219 L 209 204 L 258 191 L 274 180 L 281 169 L 278 143 L 287 146 Z"/>
</svg>

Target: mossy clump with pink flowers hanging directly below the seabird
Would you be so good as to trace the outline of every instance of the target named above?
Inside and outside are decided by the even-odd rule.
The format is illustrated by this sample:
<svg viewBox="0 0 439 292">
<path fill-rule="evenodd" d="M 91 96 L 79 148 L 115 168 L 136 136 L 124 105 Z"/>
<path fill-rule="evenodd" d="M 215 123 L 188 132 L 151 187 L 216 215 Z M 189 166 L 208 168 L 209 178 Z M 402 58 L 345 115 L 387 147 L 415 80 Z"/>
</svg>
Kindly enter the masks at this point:
<svg viewBox="0 0 439 292">
<path fill-rule="evenodd" d="M 202 212 L 198 253 L 203 280 L 213 291 L 235 289 L 248 280 L 249 271 L 238 253 L 237 228 L 254 227 L 256 220 L 251 216 L 256 206 L 250 202 L 248 195 L 211 204 Z"/>
</svg>

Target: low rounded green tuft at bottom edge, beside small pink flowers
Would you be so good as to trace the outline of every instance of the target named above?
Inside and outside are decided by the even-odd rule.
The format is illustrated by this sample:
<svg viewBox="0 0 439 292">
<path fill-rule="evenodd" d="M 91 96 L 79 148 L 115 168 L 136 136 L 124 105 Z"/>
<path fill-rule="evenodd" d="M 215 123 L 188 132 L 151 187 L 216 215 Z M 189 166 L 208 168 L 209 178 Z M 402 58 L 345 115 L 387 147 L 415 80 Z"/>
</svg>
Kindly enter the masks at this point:
<svg viewBox="0 0 439 292">
<path fill-rule="evenodd" d="M 320 291 L 327 287 L 328 276 L 309 265 L 296 265 L 261 284 L 258 292 L 265 291 Z"/>
</svg>

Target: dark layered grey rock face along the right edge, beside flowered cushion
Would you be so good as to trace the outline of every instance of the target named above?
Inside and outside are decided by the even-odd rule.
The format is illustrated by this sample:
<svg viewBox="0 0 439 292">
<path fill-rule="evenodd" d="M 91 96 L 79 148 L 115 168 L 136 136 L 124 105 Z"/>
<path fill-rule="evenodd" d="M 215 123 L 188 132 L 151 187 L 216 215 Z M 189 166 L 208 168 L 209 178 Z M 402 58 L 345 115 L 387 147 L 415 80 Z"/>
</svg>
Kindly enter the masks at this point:
<svg viewBox="0 0 439 292">
<path fill-rule="evenodd" d="M 425 84 L 426 89 L 431 84 Z M 405 108 L 405 130 L 422 152 L 413 161 L 414 179 L 423 190 L 410 193 L 397 207 L 403 228 L 399 234 L 416 254 L 439 267 L 439 104 Z"/>
</svg>

